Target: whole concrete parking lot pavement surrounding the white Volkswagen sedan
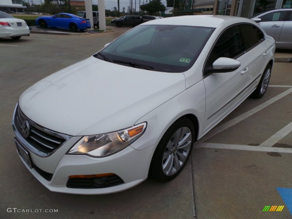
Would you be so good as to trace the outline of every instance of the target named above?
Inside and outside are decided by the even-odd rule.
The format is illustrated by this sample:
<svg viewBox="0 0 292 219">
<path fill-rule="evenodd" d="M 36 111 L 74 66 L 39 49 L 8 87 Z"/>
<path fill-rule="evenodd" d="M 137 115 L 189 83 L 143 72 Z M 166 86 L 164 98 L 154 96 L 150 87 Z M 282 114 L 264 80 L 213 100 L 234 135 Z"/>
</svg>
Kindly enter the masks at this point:
<svg viewBox="0 0 292 219">
<path fill-rule="evenodd" d="M 0 52 L 5 54 L 0 65 L 0 218 L 291 218 L 286 191 L 292 188 L 292 63 L 275 63 L 265 96 L 245 100 L 195 143 L 186 168 L 169 183 L 146 180 L 124 192 L 82 196 L 50 192 L 27 171 L 11 130 L 20 94 L 128 29 L 86 36 L 31 34 L 19 41 L 0 39 Z M 265 206 L 284 208 L 263 212 Z M 23 209 L 30 212 L 17 212 Z"/>
</svg>

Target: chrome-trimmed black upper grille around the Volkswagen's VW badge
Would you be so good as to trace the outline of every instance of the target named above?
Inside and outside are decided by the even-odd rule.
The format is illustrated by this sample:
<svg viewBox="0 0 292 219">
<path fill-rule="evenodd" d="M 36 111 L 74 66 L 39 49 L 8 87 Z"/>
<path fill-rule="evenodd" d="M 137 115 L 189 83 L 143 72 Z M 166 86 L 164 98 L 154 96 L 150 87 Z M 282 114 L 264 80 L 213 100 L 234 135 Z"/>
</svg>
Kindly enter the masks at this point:
<svg viewBox="0 0 292 219">
<path fill-rule="evenodd" d="M 22 123 L 27 120 L 30 126 L 29 136 L 25 138 L 22 134 Z M 46 155 L 54 152 L 58 147 L 71 138 L 69 135 L 57 133 L 47 128 L 39 126 L 25 116 L 25 114 L 17 106 L 14 115 L 15 127 L 20 135 L 32 145 L 36 150 L 39 150 Z"/>
</svg>

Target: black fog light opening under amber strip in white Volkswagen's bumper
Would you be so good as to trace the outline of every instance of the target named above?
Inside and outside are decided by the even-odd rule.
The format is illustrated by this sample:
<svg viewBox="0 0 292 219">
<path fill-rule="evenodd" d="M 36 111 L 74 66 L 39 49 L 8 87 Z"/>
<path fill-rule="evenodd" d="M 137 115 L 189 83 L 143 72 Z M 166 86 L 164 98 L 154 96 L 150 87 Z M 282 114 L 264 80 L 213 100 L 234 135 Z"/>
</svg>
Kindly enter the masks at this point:
<svg viewBox="0 0 292 219">
<path fill-rule="evenodd" d="M 97 189 L 107 188 L 123 184 L 124 181 L 117 175 L 98 177 L 98 178 L 69 178 L 68 188 L 75 189 Z"/>
</svg>

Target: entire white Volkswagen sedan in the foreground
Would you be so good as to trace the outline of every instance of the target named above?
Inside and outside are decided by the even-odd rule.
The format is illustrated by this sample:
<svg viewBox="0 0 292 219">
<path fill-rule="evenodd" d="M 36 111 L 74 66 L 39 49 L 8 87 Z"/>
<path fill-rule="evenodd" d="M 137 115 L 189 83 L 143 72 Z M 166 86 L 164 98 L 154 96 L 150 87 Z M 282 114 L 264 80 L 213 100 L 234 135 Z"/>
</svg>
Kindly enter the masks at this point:
<svg viewBox="0 0 292 219">
<path fill-rule="evenodd" d="M 274 51 L 247 18 L 143 23 L 22 93 L 12 121 L 20 159 L 55 192 L 169 181 L 194 141 L 247 97 L 264 95 Z"/>
</svg>

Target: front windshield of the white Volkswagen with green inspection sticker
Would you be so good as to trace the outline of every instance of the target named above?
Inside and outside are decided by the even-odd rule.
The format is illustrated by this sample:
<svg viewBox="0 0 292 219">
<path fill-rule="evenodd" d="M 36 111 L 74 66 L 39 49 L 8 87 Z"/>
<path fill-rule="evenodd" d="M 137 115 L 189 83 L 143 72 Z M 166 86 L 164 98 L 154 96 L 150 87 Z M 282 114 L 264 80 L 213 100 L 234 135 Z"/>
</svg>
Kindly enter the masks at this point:
<svg viewBox="0 0 292 219">
<path fill-rule="evenodd" d="M 94 57 L 160 72 L 184 72 L 194 64 L 215 28 L 140 25 Z"/>
</svg>

